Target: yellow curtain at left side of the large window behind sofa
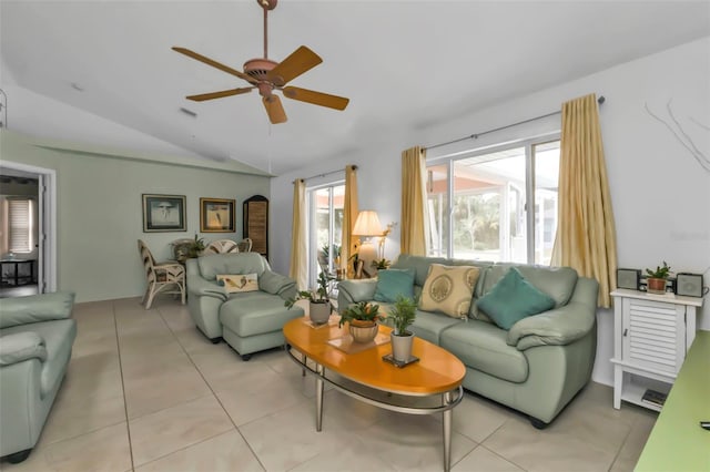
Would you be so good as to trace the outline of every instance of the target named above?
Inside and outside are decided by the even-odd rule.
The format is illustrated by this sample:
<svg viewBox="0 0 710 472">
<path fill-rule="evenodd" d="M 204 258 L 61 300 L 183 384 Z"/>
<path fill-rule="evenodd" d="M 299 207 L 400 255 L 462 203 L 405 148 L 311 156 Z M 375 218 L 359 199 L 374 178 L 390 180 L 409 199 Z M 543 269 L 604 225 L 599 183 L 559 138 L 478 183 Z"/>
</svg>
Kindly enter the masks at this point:
<svg viewBox="0 0 710 472">
<path fill-rule="evenodd" d="M 426 256 L 426 150 L 415 146 L 402 153 L 400 252 Z"/>
</svg>

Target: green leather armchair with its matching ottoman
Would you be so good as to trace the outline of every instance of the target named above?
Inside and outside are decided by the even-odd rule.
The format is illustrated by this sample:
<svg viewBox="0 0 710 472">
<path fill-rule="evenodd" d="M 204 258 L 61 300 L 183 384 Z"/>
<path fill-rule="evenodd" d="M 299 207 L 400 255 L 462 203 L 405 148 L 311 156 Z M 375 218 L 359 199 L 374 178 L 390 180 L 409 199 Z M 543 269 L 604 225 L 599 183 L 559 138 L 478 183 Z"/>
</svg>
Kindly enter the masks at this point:
<svg viewBox="0 0 710 472">
<path fill-rule="evenodd" d="M 224 339 L 242 359 L 283 346 L 286 321 L 304 315 L 284 301 L 296 296 L 296 281 L 271 270 L 257 253 L 213 254 L 186 260 L 187 308 L 212 342 Z M 219 275 L 256 274 L 258 290 L 227 293 Z"/>
</svg>

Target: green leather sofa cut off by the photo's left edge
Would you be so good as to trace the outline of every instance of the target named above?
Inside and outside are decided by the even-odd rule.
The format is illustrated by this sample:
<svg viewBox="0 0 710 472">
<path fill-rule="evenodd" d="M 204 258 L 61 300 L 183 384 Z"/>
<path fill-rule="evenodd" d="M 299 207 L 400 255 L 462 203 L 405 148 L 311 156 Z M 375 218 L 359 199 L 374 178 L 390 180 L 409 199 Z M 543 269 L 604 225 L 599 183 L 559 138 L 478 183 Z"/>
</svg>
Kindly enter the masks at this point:
<svg viewBox="0 0 710 472">
<path fill-rule="evenodd" d="M 77 337 L 74 294 L 0 299 L 0 456 L 22 462 L 37 444 Z"/>
</svg>

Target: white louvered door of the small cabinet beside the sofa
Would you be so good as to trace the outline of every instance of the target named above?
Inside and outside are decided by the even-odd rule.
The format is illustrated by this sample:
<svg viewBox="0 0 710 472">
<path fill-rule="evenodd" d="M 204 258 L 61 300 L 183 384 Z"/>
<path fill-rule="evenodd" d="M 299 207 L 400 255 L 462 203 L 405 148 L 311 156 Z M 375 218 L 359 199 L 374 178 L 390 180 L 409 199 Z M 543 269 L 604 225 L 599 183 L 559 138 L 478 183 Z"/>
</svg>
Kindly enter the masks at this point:
<svg viewBox="0 0 710 472">
<path fill-rule="evenodd" d="M 623 299 L 623 360 L 677 373 L 686 357 L 686 307 Z"/>
</svg>

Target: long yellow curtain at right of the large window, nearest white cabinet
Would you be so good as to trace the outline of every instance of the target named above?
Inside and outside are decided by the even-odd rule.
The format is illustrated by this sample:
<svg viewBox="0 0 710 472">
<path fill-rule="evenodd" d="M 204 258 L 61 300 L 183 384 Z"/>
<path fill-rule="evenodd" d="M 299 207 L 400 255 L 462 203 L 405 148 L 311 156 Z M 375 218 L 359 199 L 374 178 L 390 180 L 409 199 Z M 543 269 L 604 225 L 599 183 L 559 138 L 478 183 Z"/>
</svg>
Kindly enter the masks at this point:
<svg viewBox="0 0 710 472">
<path fill-rule="evenodd" d="M 617 285 L 617 237 L 595 94 L 562 104 L 558 198 L 552 264 L 596 278 L 598 305 L 609 308 Z"/>
</svg>

